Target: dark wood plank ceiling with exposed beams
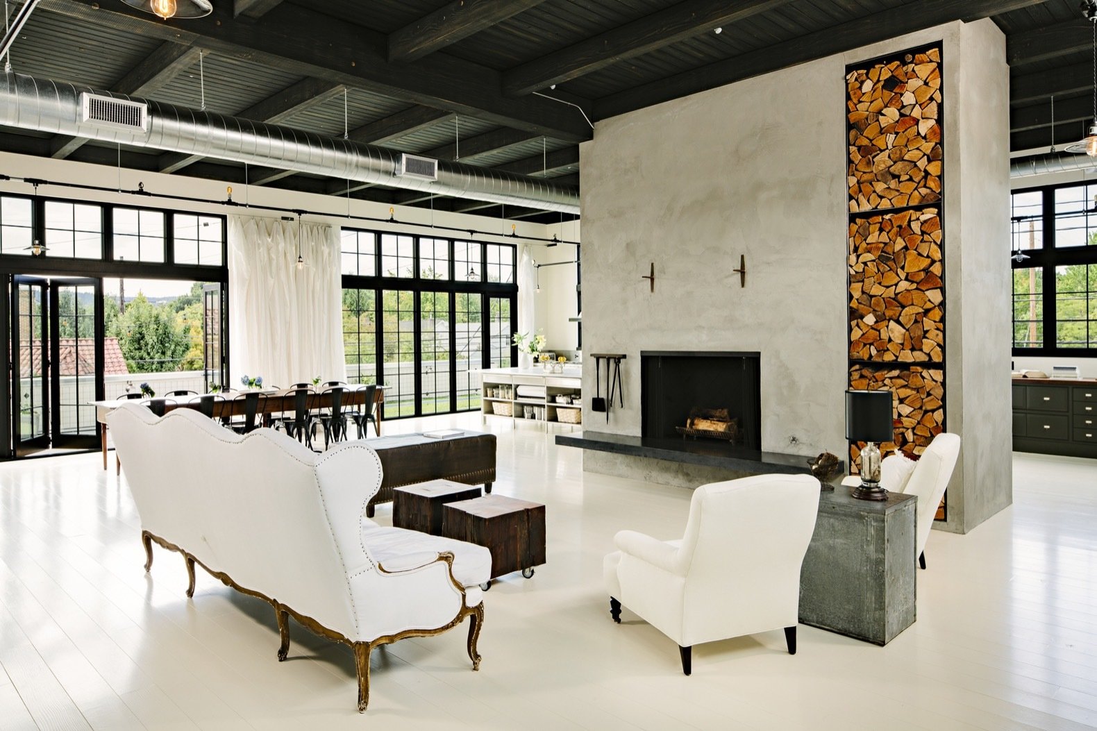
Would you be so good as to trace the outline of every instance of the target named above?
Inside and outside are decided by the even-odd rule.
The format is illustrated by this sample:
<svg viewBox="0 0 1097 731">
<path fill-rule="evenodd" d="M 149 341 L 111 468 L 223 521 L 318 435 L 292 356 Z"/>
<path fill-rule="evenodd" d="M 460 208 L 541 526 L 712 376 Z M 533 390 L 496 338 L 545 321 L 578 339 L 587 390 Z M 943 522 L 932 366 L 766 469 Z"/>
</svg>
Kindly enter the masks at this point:
<svg viewBox="0 0 1097 731">
<path fill-rule="evenodd" d="M 579 184 L 578 143 L 614 116 L 896 35 L 992 18 L 1010 64 L 1010 147 L 1079 139 L 1093 29 L 1075 0 L 213 0 L 162 22 L 121 0 L 42 0 L 16 72 Z M 720 33 L 715 29 L 720 27 Z M 545 95 L 553 97 L 548 99 Z M 567 102 L 567 103 L 565 103 Z M 580 111 L 581 109 L 581 111 Z M 0 149 L 116 165 L 114 146 L 4 130 Z M 688 140 L 682 140 L 688 144 Z M 227 182 L 508 218 L 536 209 L 123 148 Z"/>
</svg>

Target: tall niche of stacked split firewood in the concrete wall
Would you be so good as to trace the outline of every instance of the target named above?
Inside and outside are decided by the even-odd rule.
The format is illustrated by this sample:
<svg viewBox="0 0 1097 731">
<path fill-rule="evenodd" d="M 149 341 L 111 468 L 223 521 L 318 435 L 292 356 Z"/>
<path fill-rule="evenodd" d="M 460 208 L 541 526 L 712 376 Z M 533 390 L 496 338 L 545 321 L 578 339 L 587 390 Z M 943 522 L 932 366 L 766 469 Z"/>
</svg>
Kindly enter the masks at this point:
<svg viewBox="0 0 1097 731">
<path fill-rule="evenodd" d="M 941 88 L 939 47 L 846 69 L 849 385 L 895 394 L 885 454 L 945 429 Z"/>
</svg>

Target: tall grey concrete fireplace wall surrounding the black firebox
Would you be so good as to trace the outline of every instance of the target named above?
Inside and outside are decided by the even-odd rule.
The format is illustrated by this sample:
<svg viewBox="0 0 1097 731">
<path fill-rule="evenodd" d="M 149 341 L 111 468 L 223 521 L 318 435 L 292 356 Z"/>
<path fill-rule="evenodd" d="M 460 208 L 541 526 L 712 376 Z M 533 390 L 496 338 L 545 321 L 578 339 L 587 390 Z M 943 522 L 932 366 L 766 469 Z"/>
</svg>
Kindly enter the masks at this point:
<svg viewBox="0 0 1097 731">
<path fill-rule="evenodd" d="M 599 122 L 581 146 L 584 351 L 629 360 L 625 406 L 585 424 L 640 434 L 642 350 L 757 350 L 762 449 L 847 453 L 845 67 L 931 42 L 946 83 L 947 418 L 965 457 L 942 527 L 1009 504 L 1008 68 L 987 21 Z M 585 392 L 593 378 L 588 359 Z"/>
</svg>

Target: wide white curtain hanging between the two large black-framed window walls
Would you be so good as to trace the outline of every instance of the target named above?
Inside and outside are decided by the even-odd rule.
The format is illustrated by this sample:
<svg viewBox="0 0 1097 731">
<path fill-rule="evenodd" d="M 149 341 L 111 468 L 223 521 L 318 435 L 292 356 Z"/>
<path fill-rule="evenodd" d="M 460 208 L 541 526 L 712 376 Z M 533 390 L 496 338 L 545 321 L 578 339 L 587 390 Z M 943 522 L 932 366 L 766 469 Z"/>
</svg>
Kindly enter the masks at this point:
<svg viewBox="0 0 1097 731">
<path fill-rule="evenodd" d="M 229 216 L 229 383 L 244 374 L 281 387 L 343 380 L 341 285 L 331 226 Z"/>
</svg>

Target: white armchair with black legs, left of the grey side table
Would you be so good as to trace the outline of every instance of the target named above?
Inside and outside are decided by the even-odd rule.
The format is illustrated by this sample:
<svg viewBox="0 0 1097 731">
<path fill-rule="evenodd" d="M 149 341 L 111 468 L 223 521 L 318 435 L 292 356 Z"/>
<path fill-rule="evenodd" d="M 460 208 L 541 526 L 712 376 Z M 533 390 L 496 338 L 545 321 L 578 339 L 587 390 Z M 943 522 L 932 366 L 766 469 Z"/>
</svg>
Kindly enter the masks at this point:
<svg viewBox="0 0 1097 731">
<path fill-rule="evenodd" d="M 624 604 L 677 642 L 686 675 L 701 642 L 783 628 L 795 654 L 818 502 L 814 477 L 758 475 L 698 487 L 681 540 L 622 530 L 603 564 L 613 621 Z"/>
</svg>

